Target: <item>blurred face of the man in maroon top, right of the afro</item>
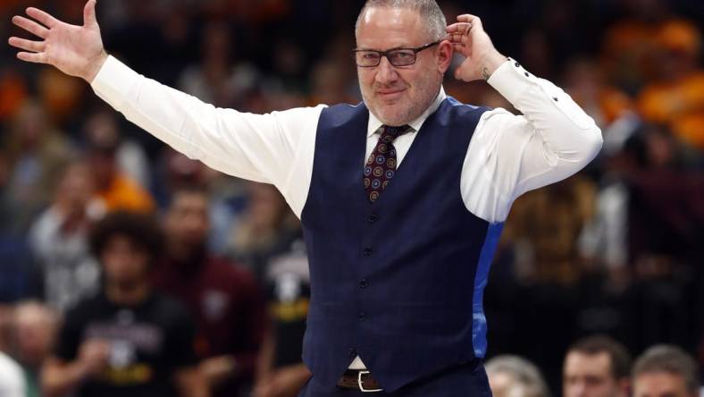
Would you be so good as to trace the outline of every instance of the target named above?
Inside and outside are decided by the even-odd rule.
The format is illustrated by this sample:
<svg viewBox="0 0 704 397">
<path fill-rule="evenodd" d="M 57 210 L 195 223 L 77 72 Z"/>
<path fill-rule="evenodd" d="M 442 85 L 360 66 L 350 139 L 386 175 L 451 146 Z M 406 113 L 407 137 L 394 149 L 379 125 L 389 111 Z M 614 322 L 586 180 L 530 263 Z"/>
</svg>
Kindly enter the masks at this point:
<svg viewBox="0 0 704 397">
<path fill-rule="evenodd" d="M 205 245 L 210 223 L 208 221 L 208 198 L 204 192 L 179 191 L 164 222 L 170 247 L 192 251 Z"/>
</svg>

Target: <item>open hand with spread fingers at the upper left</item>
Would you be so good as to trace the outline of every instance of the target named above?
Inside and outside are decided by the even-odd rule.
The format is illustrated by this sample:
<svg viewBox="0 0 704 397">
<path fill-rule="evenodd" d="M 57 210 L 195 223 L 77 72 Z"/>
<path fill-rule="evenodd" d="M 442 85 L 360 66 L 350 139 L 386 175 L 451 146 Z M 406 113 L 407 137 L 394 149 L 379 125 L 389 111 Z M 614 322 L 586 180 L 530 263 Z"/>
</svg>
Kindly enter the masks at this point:
<svg viewBox="0 0 704 397">
<path fill-rule="evenodd" d="M 13 23 L 42 38 L 39 41 L 12 37 L 11 46 L 24 50 L 17 54 L 22 61 L 46 63 L 71 76 L 92 82 L 105 63 L 107 53 L 96 21 L 96 0 L 89 0 L 83 10 L 83 26 L 70 25 L 37 8 L 27 9 L 29 17 L 14 16 Z M 39 22 L 39 23 L 38 23 Z"/>
</svg>

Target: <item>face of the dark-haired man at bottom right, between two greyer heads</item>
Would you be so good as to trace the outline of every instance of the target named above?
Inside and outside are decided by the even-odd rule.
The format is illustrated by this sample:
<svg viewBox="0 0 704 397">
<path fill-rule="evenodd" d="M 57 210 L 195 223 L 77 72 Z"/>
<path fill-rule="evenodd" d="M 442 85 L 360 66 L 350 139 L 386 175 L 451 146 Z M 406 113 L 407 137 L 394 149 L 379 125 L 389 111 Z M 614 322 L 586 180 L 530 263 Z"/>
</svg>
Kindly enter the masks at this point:
<svg viewBox="0 0 704 397">
<path fill-rule="evenodd" d="M 584 354 L 571 351 L 563 371 L 565 397 L 625 397 L 624 384 L 612 376 L 611 359 L 606 352 Z"/>
</svg>

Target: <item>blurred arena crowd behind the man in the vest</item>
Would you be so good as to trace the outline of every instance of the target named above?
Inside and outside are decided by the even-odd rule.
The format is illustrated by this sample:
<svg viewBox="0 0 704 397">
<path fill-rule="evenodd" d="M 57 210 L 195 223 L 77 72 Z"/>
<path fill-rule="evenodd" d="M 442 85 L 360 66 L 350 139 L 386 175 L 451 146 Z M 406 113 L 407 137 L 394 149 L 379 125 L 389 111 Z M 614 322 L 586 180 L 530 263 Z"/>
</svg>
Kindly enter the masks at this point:
<svg viewBox="0 0 704 397">
<path fill-rule="evenodd" d="M 138 72 L 266 113 L 360 101 L 350 49 L 363 3 L 121 0 L 97 11 L 108 51 Z M 448 21 L 479 15 L 499 51 L 565 89 L 605 139 L 582 173 L 515 202 L 485 292 L 494 392 L 696 395 L 704 5 L 439 4 Z M 84 1 L 3 0 L 0 37 L 18 33 L 9 21 L 27 5 L 80 23 Z M 310 287 L 278 191 L 181 156 L 85 82 L 21 64 L 9 46 L 0 60 L 0 395 L 13 373 L 26 396 L 296 395 L 310 375 Z M 483 81 L 448 77 L 445 89 L 515 111 Z"/>
</svg>

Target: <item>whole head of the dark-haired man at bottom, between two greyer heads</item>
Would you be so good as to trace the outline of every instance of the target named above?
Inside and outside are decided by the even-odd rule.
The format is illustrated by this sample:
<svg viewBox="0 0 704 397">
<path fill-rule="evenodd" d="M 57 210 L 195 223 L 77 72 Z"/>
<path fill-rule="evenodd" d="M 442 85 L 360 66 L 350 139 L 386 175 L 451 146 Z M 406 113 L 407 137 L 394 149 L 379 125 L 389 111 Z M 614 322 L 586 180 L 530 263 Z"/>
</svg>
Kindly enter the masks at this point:
<svg viewBox="0 0 704 397">
<path fill-rule="evenodd" d="M 591 336 L 567 351 L 563 397 L 628 397 L 631 357 L 608 336 Z"/>
</svg>

